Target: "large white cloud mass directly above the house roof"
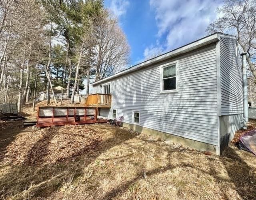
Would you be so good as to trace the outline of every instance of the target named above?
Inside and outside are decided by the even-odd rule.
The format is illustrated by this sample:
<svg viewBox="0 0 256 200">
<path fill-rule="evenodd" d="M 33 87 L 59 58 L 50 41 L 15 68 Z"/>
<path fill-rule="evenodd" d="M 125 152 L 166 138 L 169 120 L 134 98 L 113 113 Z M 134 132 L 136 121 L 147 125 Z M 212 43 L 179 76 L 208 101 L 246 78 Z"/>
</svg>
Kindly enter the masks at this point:
<svg viewBox="0 0 256 200">
<path fill-rule="evenodd" d="M 157 37 L 165 37 L 166 50 L 171 50 L 205 36 L 220 4 L 220 0 L 150 0 L 156 14 Z"/>
</svg>

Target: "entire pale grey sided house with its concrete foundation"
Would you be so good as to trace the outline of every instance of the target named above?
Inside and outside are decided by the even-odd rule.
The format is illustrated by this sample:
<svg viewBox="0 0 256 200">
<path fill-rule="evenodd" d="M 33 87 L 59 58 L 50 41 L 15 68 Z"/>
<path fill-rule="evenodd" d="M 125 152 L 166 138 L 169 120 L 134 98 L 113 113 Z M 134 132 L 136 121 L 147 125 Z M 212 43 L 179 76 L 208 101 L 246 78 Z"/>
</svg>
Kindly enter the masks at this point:
<svg viewBox="0 0 256 200">
<path fill-rule="evenodd" d="M 241 66 L 236 37 L 215 33 L 95 82 L 93 92 L 112 94 L 100 116 L 220 154 L 242 126 Z"/>
</svg>

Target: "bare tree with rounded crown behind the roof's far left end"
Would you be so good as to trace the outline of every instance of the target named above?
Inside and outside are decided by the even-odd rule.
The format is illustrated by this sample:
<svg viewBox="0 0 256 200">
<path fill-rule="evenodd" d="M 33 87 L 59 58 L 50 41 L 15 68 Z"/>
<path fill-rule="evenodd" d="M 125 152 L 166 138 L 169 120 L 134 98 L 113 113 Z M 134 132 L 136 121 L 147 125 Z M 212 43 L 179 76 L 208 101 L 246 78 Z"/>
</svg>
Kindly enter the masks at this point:
<svg viewBox="0 0 256 200">
<path fill-rule="evenodd" d="M 92 19 L 92 68 L 95 81 L 124 69 L 129 62 L 130 47 L 116 18 L 107 11 Z"/>
</svg>

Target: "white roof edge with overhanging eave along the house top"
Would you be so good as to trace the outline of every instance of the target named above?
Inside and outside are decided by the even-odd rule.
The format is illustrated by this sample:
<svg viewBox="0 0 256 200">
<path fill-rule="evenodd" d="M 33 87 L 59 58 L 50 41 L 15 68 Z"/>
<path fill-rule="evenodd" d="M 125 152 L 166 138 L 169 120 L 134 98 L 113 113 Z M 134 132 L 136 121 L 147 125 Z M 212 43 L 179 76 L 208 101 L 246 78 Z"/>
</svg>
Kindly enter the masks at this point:
<svg viewBox="0 0 256 200">
<path fill-rule="evenodd" d="M 122 76 L 124 74 L 134 72 L 135 70 L 139 70 L 139 69 L 144 68 L 146 66 L 149 66 L 151 64 L 158 63 L 158 62 L 161 62 L 161 61 L 164 61 L 164 60 L 168 60 L 168 59 L 173 58 L 175 56 L 179 56 L 181 54 L 184 54 L 184 53 L 190 52 L 192 50 L 198 49 L 202 46 L 212 44 L 214 42 L 217 42 L 220 37 L 236 39 L 236 36 L 232 36 L 232 35 L 229 35 L 229 34 L 224 34 L 224 33 L 221 33 L 221 32 L 216 32 L 214 34 L 208 35 L 204 38 L 200 38 L 199 40 L 196 40 L 194 42 L 191 42 L 189 44 L 186 44 L 186 45 L 181 46 L 179 48 L 176 48 L 174 50 L 171 50 L 170 52 L 164 53 L 160 56 L 156 56 L 154 58 L 151 58 L 149 60 L 146 60 L 144 62 L 136 64 L 136 65 L 134 65 L 134 66 L 132 66 L 132 67 L 126 69 L 126 70 L 123 70 L 123 71 L 118 72 L 118 73 L 116 73 L 112 76 L 109 76 L 107 78 L 104 78 L 102 80 L 94 82 L 92 85 L 96 85 L 96 84 L 100 84 L 102 82 L 106 82 L 106 81 L 111 80 L 113 78 L 116 78 L 118 76 Z"/>
</svg>

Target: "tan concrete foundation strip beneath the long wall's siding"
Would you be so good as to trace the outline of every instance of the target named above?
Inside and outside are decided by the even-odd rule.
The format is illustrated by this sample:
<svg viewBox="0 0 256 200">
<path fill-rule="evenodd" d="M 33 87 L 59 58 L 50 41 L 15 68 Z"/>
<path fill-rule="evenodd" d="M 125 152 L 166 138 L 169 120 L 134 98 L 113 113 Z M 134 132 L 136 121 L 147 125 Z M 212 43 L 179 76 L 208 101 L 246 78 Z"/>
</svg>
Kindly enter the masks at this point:
<svg viewBox="0 0 256 200">
<path fill-rule="evenodd" d="M 168 134 L 168 133 L 165 133 L 165 132 L 161 132 L 161 131 L 158 131 L 158 130 L 153 130 L 153 129 L 150 129 L 150 128 L 145 128 L 145 127 L 142 127 L 142 126 L 138 126 L 136 124 L 123 123 L 123 127 L 130 128 L 132 130 L 136 130 L 140 133 L 147 134 L 147 135 L 150 135 L 150 136 L 155 137 L 155 138 L 161 138 L 162 140 L 172 141 L 172 142 L 175 142 L 175 143 L 178 143 L 178 144 L 190 146 L 191 148 L 194 148 L 196 150 L 208 151 L 208 152 L 212 152 L 214 154 L 218 154 L 218 151 L 217 151 L 218 148 L 215 145 L 206 144 L 204 142 L 198 142 L 198 141 L 195 141 L 195 140 L 190 140 L 190 139 L 187 139 L 187 138 L 183 138 L 183 137 L 180 137 L 180 136 L 175 136 L 175 135 Z"/>
</svg>

